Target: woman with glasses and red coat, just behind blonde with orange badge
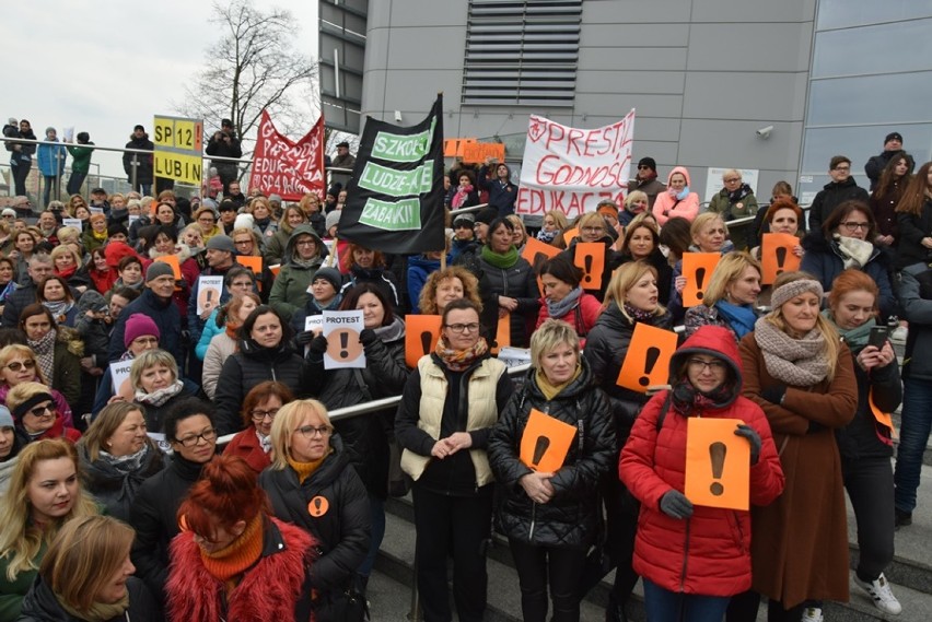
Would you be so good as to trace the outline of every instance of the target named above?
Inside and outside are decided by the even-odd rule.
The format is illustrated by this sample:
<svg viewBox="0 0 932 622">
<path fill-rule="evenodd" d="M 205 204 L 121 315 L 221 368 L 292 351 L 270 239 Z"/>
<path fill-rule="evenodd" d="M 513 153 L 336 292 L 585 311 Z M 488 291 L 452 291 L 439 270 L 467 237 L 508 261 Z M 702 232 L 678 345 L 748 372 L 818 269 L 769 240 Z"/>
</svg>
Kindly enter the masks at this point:
<svg viewBox="0 0 932 622">
<path fill-rule="evenodd" d="M 275 380 L 259 383 L 243 400 L 245 430 L 236 433 L 223 449 L 224 456 L 238 456 L 257 473 L 271 465 L 271 425 L 278 411 L 294 401 L 294 394 Z"/>
</svg>

